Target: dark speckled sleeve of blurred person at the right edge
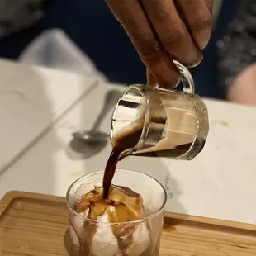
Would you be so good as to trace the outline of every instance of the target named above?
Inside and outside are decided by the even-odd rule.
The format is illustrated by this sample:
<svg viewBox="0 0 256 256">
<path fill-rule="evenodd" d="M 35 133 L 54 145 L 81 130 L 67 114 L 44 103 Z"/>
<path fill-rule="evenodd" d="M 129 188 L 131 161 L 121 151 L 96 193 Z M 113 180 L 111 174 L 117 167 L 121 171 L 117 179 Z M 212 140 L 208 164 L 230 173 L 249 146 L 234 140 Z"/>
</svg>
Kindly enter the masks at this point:
<svg viewBox="0 0 256 256">
<path fill-rule="evenodd" d="M 236 16 L 230 21 L 226 35 L 217 43 L 218 83 L 221 95 L 235 77 L 256 61 L 256 0 L 243 0 Z"/>
</svg>

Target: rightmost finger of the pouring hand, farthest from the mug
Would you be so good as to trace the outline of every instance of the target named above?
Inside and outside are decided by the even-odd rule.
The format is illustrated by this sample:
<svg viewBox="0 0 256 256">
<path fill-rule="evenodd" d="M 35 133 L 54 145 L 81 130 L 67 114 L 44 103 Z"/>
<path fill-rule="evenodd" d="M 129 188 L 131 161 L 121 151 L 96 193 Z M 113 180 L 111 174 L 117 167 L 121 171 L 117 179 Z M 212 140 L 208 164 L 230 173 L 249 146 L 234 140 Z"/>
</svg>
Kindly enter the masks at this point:
<svg viewBox="0 0 256 256">
<path fill-rule="evenodd" d="M 176 0 L 190 34 L 199 49 L 204 49 L 211 36 L 211 0 Z"/>
</svg>

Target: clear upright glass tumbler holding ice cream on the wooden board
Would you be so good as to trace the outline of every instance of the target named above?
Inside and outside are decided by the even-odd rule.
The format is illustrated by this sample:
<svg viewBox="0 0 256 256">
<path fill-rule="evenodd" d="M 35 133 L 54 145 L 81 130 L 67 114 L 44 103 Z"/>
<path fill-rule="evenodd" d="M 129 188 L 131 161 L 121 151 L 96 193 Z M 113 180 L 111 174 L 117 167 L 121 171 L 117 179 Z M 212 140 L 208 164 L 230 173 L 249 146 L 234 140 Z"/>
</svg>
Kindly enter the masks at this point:
<svg viewBox="0 0 256 256">
<path fill-rule="evenodd" d="M 154 178 L 130 170 L 117 169 L 112 183 L 129 187 L 144 201 L 146 217 L 141 220 L 108 223 L 81 216 L 74 206 L 83 195 L 101 183 L 104 172 L 92 173 L 75 181 L 67 192 L 69 234 L 73 241 L 74 256 L 158 256 L 164 223 L 167 195 L 164 187 Z M 143 186 L 143 184 L 145 184 Z M 115 237 L 112 229 L 130 230 Z"/>
</svg>

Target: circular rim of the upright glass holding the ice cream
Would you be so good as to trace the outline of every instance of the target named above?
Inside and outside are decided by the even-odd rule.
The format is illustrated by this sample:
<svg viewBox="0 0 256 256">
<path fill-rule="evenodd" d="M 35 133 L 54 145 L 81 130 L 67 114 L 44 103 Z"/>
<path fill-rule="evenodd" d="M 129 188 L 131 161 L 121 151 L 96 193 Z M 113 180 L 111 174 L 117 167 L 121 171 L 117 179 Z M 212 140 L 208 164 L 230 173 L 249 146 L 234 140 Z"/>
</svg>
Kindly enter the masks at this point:
<svg viewBox="0 0 256 256">
<path fill-rule="evenodd" d="M 116 172 L 117 173 L 126 173 L 126 172 L 131 172 L 131 173 L 140 173 L 138 171 L 133 171 L 133 170 L 127 170 L 127 169 L 116 169 Z M 95 172 L 95 173 L 90 173 L 90 174 L 86 174 L 86 175 L 83 175 L 82 177 L 78 178 L 77 180 L 75 180 L 68 188 L 67 192 L 66 192 L 66 204 L 69 208 L 69 211 L 72 211 L 73 214 L 75 216 L 78 216 L 79 219 L 83 220 L 83 221 L 89 221 L 89 222 L 92 222 L 92 223 L 95 223 L 95 224 L 104 224 L 104 225 L 127 225 L 127 224 L 140 224 L 141 222 L 145 222 L 145 220 L 150 220 L 152 218 L 154 218 L 154 216 L 157 216 L 159 214 L 159 212 L 163 211 L 164 207 L 166 206 L 166 202 L 167 202 L 167 192 L 164 188 L 164 186 L 159 183 L 159 181 L 148 175 L 148 174 L 145 174 L 145 173 L 140 173 L 141 175 L 144 175 L 144 176 L 147 176 L 149 178 L 152 178 L 154 179 L 154 181 L 156 183 L 159 184 L 160 187 L 162 187 L 162 190 L 164 192 L 164 201 L 163 201 L 163 204 L 159 207 L 159 209 L 157 211 L 155 211 L 153 214 L 149 215 L 149 216 L 145 216 L 144 218 L 140 219 L 140 220 L 133 220 L 133 221 L 126 221 L 126 222 L 112 222 L 112 223 L 109 223 L 109 222 L 104 222 L 104 221 L 98 221 L 98 220 L 92 220 L 92 219 L 89 219 L 88 217 L 84 217 L 84 216 L 81 216 L 78 214 L 77 211 L 75 211 L 73 209 L 73 206 L 70 205 L 70 202 L 69 202 L 69 193 L 71 191 L 71 189 L 73 188 L 73 186 L 75 186 L 77 183 L 81 182 L 81 180 L 83 180 L 83 178 L 86 178 L 86 177 L 90 177 L 90 176 L 93 176 L 93 175 L 96 175 L 96 174 L 99 174 L 99 173 L 104 173 L 104 171 L 98 171 L 98 172 Z"/>
</svg>

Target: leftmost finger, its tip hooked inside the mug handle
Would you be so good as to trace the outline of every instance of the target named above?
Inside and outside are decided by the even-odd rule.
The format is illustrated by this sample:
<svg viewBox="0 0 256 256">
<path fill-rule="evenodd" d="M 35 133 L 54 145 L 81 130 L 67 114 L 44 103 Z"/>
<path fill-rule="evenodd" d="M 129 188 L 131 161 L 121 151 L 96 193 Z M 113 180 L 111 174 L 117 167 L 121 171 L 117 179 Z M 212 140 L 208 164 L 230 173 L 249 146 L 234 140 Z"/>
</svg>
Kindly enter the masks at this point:
<svg viewBox="0 0 256 256">
<path fill-rule="evenodd" d="M 148 18 L 137 0 L 107 0 L 111 11 L 125 28 L 130 40 L 135 45 L 140 59 L 160 87 L 173 88 L 178 84 L 179 74 L 171 56 L 164 50 L 154 35 Z"/>
</svg>

